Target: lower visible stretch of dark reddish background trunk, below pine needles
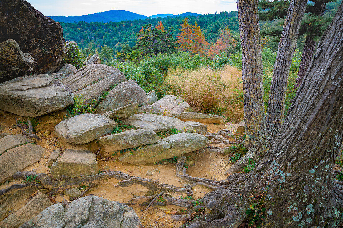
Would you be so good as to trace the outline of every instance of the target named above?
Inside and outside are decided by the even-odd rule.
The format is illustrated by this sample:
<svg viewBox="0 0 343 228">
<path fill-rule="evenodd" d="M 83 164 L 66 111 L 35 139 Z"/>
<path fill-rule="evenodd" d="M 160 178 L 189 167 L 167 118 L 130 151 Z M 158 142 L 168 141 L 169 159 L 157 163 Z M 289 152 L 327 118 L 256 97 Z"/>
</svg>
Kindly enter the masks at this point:
<svg viewBox="0 0 343 228">
<path fill-rule="evenodd" d="M 298 88 L 301 81 L 303 80 L 306 70 L 311 63 L 313 53 L 315 52 L 316 41 L 314 38 L 307 34 L 304 44 L 303 55 L 301 56 L 299 71 L 297 79 L 295 80 L 294 88 Z"/>
</svg>

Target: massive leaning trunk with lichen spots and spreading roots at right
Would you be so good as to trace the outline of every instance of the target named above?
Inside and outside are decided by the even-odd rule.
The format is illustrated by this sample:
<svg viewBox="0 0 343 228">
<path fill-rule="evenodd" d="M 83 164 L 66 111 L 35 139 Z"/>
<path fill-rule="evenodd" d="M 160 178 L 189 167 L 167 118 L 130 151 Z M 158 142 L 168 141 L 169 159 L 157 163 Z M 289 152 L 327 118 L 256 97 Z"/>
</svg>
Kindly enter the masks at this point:
<svg viewBox="0 0 343 228">
<path fill-rule="evenodd" d="M 209 192 L 210 214 L 188 226 L 236 228 L 254 197 L 265 198 L 265 227 L 338 227 L 343 188 L 332 166 L 343 141 L 343 3 L 324 32 L 280 133 L 259 165 Z M 253 66 L 252 66 L 253 68 Z"/>
</svg>

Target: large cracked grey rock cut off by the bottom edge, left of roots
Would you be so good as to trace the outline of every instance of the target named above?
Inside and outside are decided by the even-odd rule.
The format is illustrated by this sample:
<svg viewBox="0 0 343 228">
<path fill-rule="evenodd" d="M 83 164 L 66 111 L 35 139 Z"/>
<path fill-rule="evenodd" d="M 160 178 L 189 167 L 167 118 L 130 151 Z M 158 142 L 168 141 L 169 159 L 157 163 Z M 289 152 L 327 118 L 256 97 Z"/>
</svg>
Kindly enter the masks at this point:
<svg viewBox="0 0 343 228">
<path fill-rule="evenodd" d="M 132 207 L 102 197 L 85 196 L 62 206 L 57 203 L 40 212 L 21 228 L 96 227 L 139 228 L 139 217 Z"/>
</svg>

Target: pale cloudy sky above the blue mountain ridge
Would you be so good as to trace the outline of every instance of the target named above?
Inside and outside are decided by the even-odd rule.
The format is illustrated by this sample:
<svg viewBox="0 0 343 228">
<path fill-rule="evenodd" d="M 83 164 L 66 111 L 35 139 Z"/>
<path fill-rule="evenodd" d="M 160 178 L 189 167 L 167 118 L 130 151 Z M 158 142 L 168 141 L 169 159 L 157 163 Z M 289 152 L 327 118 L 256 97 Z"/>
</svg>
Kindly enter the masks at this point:
<svg viewBox="0 0 343 228">
<path fill-rule="evenodd" d="M 151 16 L 186 12 L 207 14 L 237 10 L 236 0 L 27 0 L 45 16 L 80 16 L 127 10 Z"/>
</svg>

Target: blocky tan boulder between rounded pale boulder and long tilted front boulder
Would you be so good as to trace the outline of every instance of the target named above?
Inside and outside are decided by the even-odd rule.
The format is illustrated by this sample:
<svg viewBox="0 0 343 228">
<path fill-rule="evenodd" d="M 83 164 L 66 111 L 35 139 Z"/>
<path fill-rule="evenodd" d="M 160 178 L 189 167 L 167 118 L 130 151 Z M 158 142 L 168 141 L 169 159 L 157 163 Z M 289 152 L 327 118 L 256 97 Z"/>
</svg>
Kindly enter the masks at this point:
<svg viewBox="0 0 343 228">
<path fill-rule="evenodd" d="M 106 135 L 98 138 L 98 141 L 105 148 L 104 152 L 113 152 L 157 143 L 158 139 L 158 135 L 153 130 L 138 129 Z"/>
</svg>

